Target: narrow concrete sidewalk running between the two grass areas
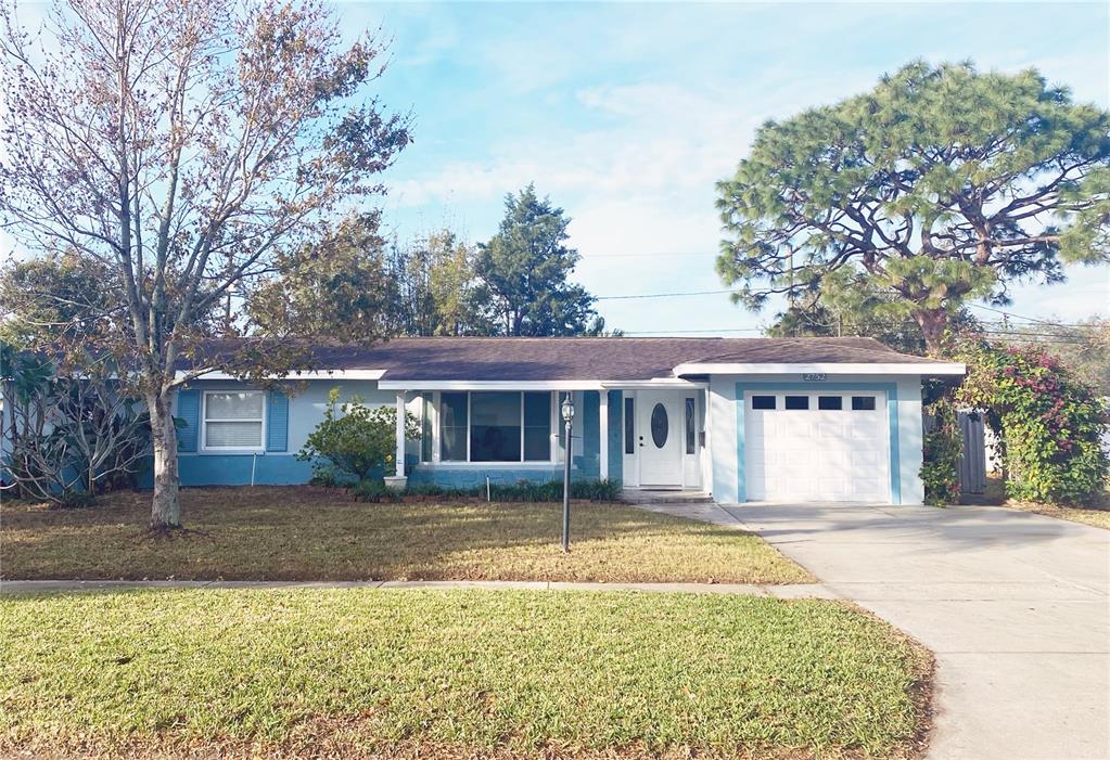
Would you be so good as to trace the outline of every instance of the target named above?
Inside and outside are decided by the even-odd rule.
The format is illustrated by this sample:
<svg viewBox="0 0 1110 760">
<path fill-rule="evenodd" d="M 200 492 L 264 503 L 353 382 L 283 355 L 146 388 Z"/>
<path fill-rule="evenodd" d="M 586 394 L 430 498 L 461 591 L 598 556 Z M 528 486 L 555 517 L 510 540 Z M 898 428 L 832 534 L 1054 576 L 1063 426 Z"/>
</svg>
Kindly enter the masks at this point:
<svg viewBox="0 0 1110 760">
<path fill-rule="evenodd" d="M 72 591 L 125 591 L 165 588 L 369 588 L 369 589 L 523 589 L 531 591 L 646 591 L 653 594 L 736 594 L 778 599 L 816 597 L 834 599 L 836 595 L 820 584 L 746 585 L 746 584 L 591 584 L 547 580 L 0 580 L 0 594 L 38 594 Z"/>
</svg>

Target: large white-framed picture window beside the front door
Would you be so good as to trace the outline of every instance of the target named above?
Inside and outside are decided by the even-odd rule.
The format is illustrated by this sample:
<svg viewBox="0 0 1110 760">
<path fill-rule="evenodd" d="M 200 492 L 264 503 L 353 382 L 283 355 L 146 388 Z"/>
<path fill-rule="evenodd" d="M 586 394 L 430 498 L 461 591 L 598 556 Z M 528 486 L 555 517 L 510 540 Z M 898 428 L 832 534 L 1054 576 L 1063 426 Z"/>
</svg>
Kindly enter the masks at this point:
<svg viewBox="0 0 1110 760">
<path fill-rule="evenodd" d="M 551 462 L 552 414 L 546 391 L 443 392 L 440 460 Z"/>
</svg>

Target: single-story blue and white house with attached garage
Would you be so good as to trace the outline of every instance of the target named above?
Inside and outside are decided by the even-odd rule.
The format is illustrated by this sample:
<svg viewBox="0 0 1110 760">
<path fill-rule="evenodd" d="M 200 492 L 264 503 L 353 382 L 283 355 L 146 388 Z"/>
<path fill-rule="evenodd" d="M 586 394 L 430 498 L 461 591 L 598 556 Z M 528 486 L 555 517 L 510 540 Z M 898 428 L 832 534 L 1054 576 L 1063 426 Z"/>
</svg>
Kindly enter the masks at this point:
<svg viewBox="0 0 1110 760">
<path fill-rule="evenodd" d="M 398 429 L 394 485 L 561 478 L 569 394 L 576 478 L 718 503 L 919 504 L 921 381 L 965 372 L 861 337 L 406 337 L 313 354 L 296 393 L 190 379 L 182 483 L 307 482 L 294 455 L 337 387 L 420 420 L 416 440 Z"/>
</svg>

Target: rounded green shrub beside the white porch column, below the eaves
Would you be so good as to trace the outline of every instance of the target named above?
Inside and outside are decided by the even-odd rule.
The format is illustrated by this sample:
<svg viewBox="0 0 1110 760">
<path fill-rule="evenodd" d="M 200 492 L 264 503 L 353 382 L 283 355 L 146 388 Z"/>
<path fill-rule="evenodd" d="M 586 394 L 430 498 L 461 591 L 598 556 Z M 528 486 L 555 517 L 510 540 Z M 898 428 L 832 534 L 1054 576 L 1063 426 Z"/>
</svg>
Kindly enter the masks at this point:
<svg viewBox="0 0 1110 760">
<path fill-rule="evenodd" d="M 392 468 L 396 448 L 396 409 L 392 406 L 367 407 L 362 398 L 339 407 L 339 388 L 327 396 L 324 419 L 309 434 L 296 458 L 312 462 L 313 478 L 339 483 L 344 476 L 357 482 Z M 416 418 L 405 415 L 405 437 L 420 435 Z M 330 478 L 330 480 L 329 480 Z"/>
</svg>

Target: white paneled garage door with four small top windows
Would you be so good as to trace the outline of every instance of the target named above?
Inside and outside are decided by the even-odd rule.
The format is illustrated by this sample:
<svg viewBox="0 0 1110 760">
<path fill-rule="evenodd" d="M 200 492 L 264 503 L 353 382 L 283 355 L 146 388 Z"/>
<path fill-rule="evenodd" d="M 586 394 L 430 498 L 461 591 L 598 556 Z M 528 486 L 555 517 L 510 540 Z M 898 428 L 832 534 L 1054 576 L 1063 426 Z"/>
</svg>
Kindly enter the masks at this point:
<svg viewBox="0 0 1110 760">
<path fill-rule="evenodd" d="M 747 497 L 760 501 L 890 501 L 881 392 L 745 394 Z"/>
</svg>

